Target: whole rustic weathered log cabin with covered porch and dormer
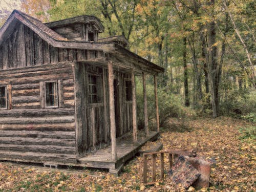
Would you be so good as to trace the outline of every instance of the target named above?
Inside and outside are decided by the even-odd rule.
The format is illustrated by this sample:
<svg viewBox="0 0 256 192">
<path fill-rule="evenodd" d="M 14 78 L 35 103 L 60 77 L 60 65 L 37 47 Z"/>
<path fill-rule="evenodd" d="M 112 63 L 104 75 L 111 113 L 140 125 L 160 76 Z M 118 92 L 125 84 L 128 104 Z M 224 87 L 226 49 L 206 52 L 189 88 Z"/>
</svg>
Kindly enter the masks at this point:
<svg viewBox="0 0 256 192">
<path fill-rule="evenodd" d="M 159 134 L 157 75 L 163 68 L 98 38 L 95 16 L 42 23 L 14 10 L 0 29 L 0 160 L 106 168 L 118 174 Z M 143 77 L 144 131 L 137 131 L 135 76 Z M 148 130 L 146 75 L 155 79 Z"/>
</svg>

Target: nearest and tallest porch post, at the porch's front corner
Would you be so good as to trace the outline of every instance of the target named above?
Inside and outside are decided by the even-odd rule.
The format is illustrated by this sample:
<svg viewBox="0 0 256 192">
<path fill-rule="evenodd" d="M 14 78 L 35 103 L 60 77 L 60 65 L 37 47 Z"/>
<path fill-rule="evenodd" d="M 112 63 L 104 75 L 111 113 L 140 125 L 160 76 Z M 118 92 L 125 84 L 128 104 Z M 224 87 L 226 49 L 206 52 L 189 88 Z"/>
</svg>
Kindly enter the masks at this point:
<svg viewBox="0 0 256 192">
<path fill-rule="evenodd" d="M 115 120 L 115 96 L 114 96 L 114 73 L 113 63 L 108 62 L 109 69 L 109 96 L 110 96 L 110 130 L 111 130 L 111 151 L 112 160 L 117 159 L 116 154 L 116 120 Z"/>
</svg>

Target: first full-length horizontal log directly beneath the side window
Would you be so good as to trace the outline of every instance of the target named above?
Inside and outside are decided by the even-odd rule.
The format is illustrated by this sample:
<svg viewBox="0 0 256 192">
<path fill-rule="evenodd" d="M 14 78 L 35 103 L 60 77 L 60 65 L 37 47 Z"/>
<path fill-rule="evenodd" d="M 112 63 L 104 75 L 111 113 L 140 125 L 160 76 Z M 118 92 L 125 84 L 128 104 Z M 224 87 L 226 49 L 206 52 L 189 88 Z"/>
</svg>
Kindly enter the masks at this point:
<svg viewBox="0 0 256 192">
<path fill-rule="evenodd" d="M 40 117 L 40 116 L 63 116 L 75 115 L 74 108 L 56 108 L 56 109 L 12 109 L 0 110 L 0 117 Z"/>
</svg>

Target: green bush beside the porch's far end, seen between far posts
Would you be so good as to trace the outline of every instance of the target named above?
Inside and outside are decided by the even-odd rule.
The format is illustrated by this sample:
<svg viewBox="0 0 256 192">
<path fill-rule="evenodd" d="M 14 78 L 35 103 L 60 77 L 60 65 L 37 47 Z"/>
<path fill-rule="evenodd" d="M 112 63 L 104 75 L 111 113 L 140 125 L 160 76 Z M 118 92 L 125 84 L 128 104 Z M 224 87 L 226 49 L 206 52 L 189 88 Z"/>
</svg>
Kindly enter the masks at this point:
<svg viewBox="0 0 256 192">
<path fill-rule="evenodd" d="M 148 120 L 151 125 L 155 127 L 156 107 L 155 107 L 155 92 L 154 86 L 150 83 L 147 84 L 147 112 Z M 143 111 L 143 87 L 142 82 L 137 80 L 136 83 L 136 97 L 137 97 L 137 116 L 138 116 L 138 129 L 144 127 L 144 111 Z M 158 88 L 158 106 L 159 106 L 159 122 L 160 126 L 166 126 L 166 122 L 171 117 L 184 117 L 189 111 L 183 106 L 183 100 L 179 95 L 172 94 L 166 90 Z M 190 112 L 188 112 L 190 114 Z"/>
</svg>

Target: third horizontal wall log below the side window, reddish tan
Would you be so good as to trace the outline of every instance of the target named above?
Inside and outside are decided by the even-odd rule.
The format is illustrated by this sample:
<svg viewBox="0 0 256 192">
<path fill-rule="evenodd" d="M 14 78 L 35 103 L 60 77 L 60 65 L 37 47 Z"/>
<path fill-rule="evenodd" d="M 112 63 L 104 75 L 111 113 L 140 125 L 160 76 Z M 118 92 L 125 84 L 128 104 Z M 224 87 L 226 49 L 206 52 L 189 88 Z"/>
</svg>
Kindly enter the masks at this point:
<svg viewBox="0 0 256 192">
<path fill-rule="evenodd" d="M 74 131 L 75 122 L 46 123 L 46 124 L 0 124 L 0 130 L 27 130 L 27 131 Z"/>
</svg>

